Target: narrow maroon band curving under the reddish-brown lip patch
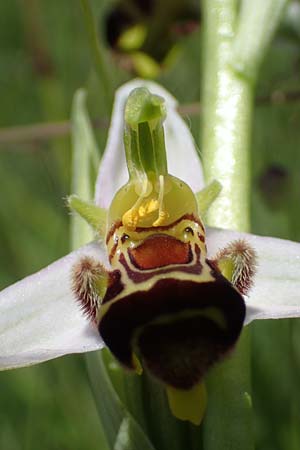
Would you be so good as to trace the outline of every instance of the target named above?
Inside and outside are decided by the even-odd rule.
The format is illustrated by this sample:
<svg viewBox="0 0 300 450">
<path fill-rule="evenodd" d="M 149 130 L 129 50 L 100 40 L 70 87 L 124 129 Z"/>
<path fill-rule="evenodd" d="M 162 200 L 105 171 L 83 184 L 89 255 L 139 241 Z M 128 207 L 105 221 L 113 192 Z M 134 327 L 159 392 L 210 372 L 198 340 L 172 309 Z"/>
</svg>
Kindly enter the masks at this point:
<svg viewBox="0 0 300 450">
<path fill-rule="evenodd" d="M 197 248 L 199 249 L 199 247 L 197 246 Z M 196 246 L 195 246 L 196 249 Z M 196 254 L 197 254 L 197 249 L 196 249 Z M 174 272 L 184 272 L 184 273 L 191 273 L 194 275 L 200 275 L 202 272 L 202 264 L 199 261 L 199 255 L 198 254 L 198 260 L 194 263 L 194 264 L 190 264 L 190 265 L 173 265 L 171 267 L 165 268 L 165 269 L 159 269 L 159 270 L 151 270 L 151 271 L 147 271 L 147 272 L 141 272 L 138 270 L 132 270 L 126 259 L 125 256 L 123 255 L 123 253 L 121 253 L 119 261 L 122 264 L 122 266 L 125 268 L 128 277 L 134 281 L 134 283 L 142 283 L 143 281 L 147 281 L 150 278 L 152 278 L 155 275 L 163 275 L 166 273 L 174 273 Z"/>
</svg>

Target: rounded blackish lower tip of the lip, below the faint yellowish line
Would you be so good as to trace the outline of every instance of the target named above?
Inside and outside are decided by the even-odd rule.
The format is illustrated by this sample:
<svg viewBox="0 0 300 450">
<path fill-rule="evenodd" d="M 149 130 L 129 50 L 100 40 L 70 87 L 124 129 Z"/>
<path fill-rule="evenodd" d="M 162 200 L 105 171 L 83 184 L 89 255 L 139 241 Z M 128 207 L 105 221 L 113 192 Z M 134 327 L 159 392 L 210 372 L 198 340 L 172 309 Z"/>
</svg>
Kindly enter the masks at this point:
<svg viewBox="0 0 300 450">
<path fill-rule="evenodd" d="M 197 384 L 232 346 L 230 333 L 199 315 L 146 325 L 138 338 L 139 351 L 149 371 L 180 389 Z"/>
</svg>

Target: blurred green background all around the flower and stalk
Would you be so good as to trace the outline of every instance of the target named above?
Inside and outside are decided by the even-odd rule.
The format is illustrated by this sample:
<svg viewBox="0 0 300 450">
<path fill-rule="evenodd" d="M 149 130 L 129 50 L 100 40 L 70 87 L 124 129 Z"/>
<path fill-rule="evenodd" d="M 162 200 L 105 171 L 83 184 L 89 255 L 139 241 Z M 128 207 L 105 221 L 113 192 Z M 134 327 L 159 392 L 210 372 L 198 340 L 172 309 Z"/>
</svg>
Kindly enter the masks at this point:
<svg viewBox="0 0 300 450">
<path fill-rule="evenodd" d="M 163 12 L 151 0 L 91 3 L 112 87 L 136 75 L 154 77 L 179 99 L 199 141 L 198 3 L 168 0 Z M 2 0 L 0 46 L 4 288 L 69 251 L 63 199 L 70 193 L 68 120 L 74 92 L 88 88 L 102 150 L 109 109 L 93 69 L 79 0 Z M 41 126 L 46 123 L 51 127 Z M 299 124 L 300 3 L 293 1 L 258 80 L 251 161 L 254 233 L 300 240 Z M 11 128 L 17 126 L 26 129 Z M 257 449 L 298 450 L 299 321 L 251 327 Z M 102 442 L 84 357 L 0 373 L 1 450 L 88 450 L 104 448 Z"/>
</svg>

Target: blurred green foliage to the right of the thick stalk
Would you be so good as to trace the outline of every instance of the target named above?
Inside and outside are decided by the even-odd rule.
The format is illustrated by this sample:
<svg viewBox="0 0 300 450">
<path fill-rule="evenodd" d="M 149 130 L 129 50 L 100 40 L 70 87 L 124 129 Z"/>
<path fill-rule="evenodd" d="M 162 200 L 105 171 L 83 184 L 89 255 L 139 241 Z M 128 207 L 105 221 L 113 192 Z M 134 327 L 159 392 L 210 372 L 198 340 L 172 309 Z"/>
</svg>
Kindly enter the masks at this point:
<svg viewBox="0 0 300 450">
<path fill-rule="evenodd" d="M 258 102 L 252 151 L 253 231 L 295 241 L 300 240 L 299 44 L 299 35 L 282 27 L 265 60 L 257 96 L 263 100 L 271 93 L 272 101 Z M 285 98 L 283 92 L 290 96 Z M 253 329 L 257 448 L 296 450 L 300 446 L 299 321 L 259 322 Z"/>
</svg>

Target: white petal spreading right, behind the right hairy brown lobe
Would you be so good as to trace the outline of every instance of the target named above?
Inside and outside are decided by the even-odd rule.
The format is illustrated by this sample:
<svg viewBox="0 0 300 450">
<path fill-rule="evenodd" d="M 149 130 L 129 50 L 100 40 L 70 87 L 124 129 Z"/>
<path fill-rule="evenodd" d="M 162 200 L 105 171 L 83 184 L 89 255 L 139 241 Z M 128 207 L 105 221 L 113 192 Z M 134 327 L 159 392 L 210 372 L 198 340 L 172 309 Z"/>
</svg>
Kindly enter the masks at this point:
<svg viewBox="0 0 300 450">
<path fill-rule="evenodd" d="M 257 273 L 246 298 L 246 324 L 255 319 L 300 317 L 300 243 L 210 228 L 209 257 L 236 239 L 245 239 L 257 253 Z"/>
</svg>

